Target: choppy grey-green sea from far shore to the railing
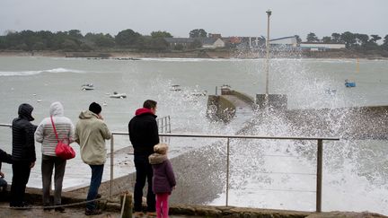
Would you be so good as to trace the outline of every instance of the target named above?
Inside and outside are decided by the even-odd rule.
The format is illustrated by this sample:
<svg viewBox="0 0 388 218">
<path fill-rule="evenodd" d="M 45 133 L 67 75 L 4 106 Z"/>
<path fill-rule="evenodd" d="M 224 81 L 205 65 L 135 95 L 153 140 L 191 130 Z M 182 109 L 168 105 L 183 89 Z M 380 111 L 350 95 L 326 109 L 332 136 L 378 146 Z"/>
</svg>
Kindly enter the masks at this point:
<svg viewBox="0 0 388 218">
<path fill-rule="evenodd" d="M 257 111 L 237 116 L 230 123 L 207 118 L 207 96 L 228 84 L 253 98 L 265 92 L 265 59 L 141 58 L 89 59 L 66 57 L 0 57 L 0 124 L 11 124 L 22 103 L 34 110 L 38 125 L 49 116 L 49 106 L 60 101 L 74 123 L 95 101 L 113 132 L 128 131 L 128 121 L 147 99 L 158 102 L 159 118 L 170 116 L 172 133 L 234 135 L 252 123 Z M 355 82 L 345 87 L 345 80 Z M 93 91 L 83 91 L 93 83 Z M 172 91 L 180 85 L 181 91 Z M 388 105 L 388 60 L 273 58 L 269 61 L 269 93 L 287 94 L 288 109 L 336 109 Z M 127 98 L 113 99 L 113 92 Z M 382 121 L 387 124 L 387 121 Z M 257 124 L 253 134 L 294 135 L 284 120 Z M 336 126 L 331 126 L 335 128 Z M 303 133 L 302 133 L 303 134 Z M 387 133 L 388 134 L 388 133 Z M 296 135 L 297 136 L 297 135 Z M 300 135 L 304 136 L 304 135 Z M 320 135 L 322 137 L 340 137 Z M 173 138 L 171 156 L 198 149 L 212 140 Z M 11 128 L 0 126 L 0 147 L 12 151 Z M 370 211 L 388 215 L 388 147 L 384 140 L 325 142 L 323 153 L 322 211 Z M 73 144 L 77 153 L 79 148 Z M 115 137 L 114 151 L 130 146 L 127 135 Z M 232 144 L 232 181 L 229 205 L 258 208 L 315 210 L 315 144 L 304 142 L 249 142 Z M 110 153 L 110 142 L 107 142 Z M 41 187 L 40 144 L 29 187 Z M 12 181 L 11 166 L 2 171 Z M 134 171 L 132 156 L 118 154 L 114 177 Z M 107 161 L 104 180 L 110 178 Z M 79 155 L 67 161 L 64 189 L 89 183 L 90 169 Z M 225 205 L 220 193 L 207 205 Z"/>
</svg>

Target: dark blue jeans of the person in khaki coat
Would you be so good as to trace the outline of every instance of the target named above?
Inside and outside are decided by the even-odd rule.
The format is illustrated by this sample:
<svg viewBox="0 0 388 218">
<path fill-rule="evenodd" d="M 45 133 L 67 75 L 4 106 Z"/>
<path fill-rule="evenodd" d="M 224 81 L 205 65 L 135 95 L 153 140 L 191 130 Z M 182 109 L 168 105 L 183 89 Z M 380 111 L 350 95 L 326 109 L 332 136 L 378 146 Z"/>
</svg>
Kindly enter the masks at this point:
<svg viewBox="0 0 388 218">
<path fill-rule="evenodd" d="M 94 200 L 98 194 L 98 189 L 101 185 L 102 172 L 103 172 L 103 164 L 102 165 L 89 165 L 92 169 L 92 178 L 91 184 L 89 187 L 88 196 L 86 201 Z M 89 210 L 96 209 L 96 202 L 90 202 L 86 204 L 86 208 Z"/>
</svg>

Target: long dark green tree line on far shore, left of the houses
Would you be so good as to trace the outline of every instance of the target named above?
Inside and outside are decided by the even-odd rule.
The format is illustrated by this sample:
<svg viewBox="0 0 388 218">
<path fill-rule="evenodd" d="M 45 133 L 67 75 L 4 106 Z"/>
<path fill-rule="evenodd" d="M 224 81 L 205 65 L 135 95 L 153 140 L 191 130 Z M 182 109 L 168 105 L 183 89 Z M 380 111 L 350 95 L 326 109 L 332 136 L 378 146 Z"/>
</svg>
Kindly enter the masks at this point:
<svg viewBox="0 0 388 218">
<path fill-rule="evenodd" d="M 134 48 L 139 50 L 165 50 L 169 48 L 164 38 L 172 37 L 166 31 L 153 31 L 143 36 L 130 29 L 119 31 L 116 36 L 81 31 L 20 31 L 0 36 L 0 49 L 8 50 L 63 50 L 91 51 L 101 49 Z"/>
</svg>

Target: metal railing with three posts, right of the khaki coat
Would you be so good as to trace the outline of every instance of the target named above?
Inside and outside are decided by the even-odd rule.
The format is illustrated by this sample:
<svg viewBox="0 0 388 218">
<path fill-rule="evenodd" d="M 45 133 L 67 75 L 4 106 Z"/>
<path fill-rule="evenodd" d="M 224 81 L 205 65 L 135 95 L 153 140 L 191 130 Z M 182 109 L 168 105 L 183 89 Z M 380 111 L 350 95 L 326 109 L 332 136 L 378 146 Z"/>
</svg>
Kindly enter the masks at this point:
<svg viewBox="0 0 388 218">
<path fill-rule="evenodd" d="M 113 188 L 113 159 L 114 159 L 114 135 L 128 135 L 125 132 L 112 132 L 110 138 L 110 196 Z M 302 140 L 317 141 L 317 170 L 316 170 L 316 212 L 322 212 L 322 161 L 323 140 L 340 141 L 336 137 L 291 137 L 291 136 L 258 136 L 258 135 L 193 135 L 193 134 L 159 134 L 163 137 L 199 137 L 199 138 L 224 138 L 226 139 L 226 190 L 225 205 L 229 200 L 229 164 L 230 164 L 230 140 L 231 139 L 269 139 L 269 140 Z"/>
</svg>

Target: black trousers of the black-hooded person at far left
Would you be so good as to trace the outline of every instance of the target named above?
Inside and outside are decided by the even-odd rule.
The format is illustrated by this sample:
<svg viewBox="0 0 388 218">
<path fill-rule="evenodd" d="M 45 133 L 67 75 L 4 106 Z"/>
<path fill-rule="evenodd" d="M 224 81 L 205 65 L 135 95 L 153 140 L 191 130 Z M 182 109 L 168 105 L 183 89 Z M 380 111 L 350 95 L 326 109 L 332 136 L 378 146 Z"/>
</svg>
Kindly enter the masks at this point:
<svg viewBox="0 0 388 218">
<path fill-rule="evenodd" d="M 22 206 L 25 188 L 30 179 L 30 161 L 13 161 L 13 182 L 10 206 Z"/>
</svg>

